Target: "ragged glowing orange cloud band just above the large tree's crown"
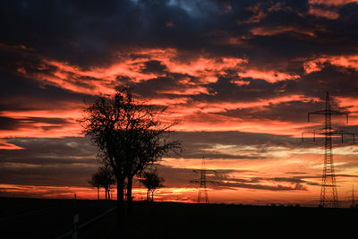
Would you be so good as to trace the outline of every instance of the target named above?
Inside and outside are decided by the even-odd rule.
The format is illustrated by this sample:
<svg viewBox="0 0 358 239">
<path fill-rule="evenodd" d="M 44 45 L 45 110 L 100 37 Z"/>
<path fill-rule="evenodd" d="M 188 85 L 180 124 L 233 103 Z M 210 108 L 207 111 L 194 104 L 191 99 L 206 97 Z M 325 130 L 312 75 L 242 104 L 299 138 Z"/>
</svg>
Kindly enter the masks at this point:
<svg viewBox="0 0 358 239">
<path fill-rule="evenodd" d="M 131 55 L 138 55 L 132 59 Z M 19 66 L 17 72 L 38 81 L 53 84 L 65 90 L 85 94 L 111 94 L 118 83 L 117 77 L 127 77 L 131 81 L 140 82 L 163 76 L 160 73 L 143 73 L 146 63 L 158 61 L 165 65 L 169 73 L 187 74 L 196 77 L 200 83 L 216 82 L 217 77 L 228 69 L 236 69 L 239 64 L 246 63 L 246 59 L 234 57 L 207 57 L 201 55 L 195 58 L 180 60 L 179 53 L 174 48 L 136 50 L 127 54 L 118 54 L 118 62 L 105 67 L 91 67 L 81 69 L 77 65 L 42 59 L 43 64 L 37 66 L 38 72 L 28 72 Z M 55 69 L 55 70 L 53 70 Z M 179 94 L 206 93 L 207 90 L 198 86 L 195 90 L 179 92 Z"/>
</svg>

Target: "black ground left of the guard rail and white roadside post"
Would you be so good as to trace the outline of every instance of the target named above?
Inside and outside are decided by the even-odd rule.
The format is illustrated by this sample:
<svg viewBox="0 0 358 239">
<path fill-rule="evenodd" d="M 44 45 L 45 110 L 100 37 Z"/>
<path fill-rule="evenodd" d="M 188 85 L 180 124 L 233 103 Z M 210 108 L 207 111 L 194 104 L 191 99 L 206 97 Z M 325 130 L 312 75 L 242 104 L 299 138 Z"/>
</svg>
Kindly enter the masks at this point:
<svg viewBox="0 0 358 239">
<path fill-rule="evenodd" d="M 55 238 L 115 207 L 115 201 L 0 198 L 0 238 Z M 71 237 L 68 237 L 71 238 Z"/>
</svg>

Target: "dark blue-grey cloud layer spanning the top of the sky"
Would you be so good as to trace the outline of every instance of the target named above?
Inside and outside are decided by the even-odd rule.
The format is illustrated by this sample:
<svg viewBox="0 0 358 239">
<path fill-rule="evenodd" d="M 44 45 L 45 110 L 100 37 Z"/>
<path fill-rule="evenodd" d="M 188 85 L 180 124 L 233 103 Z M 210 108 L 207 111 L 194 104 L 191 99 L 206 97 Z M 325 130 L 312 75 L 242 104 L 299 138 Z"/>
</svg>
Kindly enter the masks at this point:
<svg viewBox="0 0 358 239">
<path fill-rule="evenodd" d="M 332 54 L 351 54 L 357 43 L 352 38 L 356 4 L 336 9 L 335 21 L 310 14 L 307 1 L 7 1 L 3 6 L 3 44 L 83 65 L 103 64 L 112 49 L 131 45 L 248 54 L 253 64 L 273 64 L 326 54 L 328 48 Z M 252 34 L 258 27 L 267 33 Z M 290 30 L 272 34 L 278 27 Z M 217 46 L 227 36 L 244 37 L 250 49 Z"/>
</svg>

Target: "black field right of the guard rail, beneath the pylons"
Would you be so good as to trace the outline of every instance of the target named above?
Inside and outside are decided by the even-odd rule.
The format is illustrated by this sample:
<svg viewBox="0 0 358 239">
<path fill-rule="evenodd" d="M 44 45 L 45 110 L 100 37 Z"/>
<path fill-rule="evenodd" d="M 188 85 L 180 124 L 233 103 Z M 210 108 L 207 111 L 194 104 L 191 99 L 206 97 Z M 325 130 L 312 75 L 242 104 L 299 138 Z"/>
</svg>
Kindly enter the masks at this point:
<svg viewBox="0 0 358 239">
<path fill-rule="evenodd" d="M 356 238 L 357 217 L 356 209 L 135 201 L 125 235 L 114 226 L 115 214 L 85 228 L 80 235 L 156 239 Z"/>
</svg>

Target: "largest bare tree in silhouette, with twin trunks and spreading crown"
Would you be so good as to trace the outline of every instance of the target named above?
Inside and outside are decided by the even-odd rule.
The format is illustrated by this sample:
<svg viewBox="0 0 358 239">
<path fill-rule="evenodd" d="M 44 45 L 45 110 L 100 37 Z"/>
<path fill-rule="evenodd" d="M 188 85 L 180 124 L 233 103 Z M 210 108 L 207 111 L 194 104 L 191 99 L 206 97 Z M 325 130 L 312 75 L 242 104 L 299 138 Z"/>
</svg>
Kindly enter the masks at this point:
<svg viewBox="0 0 358 239">
<path fill-rule="evenodd" d="M 85 109 L 81 120 L 84 133 L 107 158 L 117 180 L 118 208 L 123 209 L 124 180 L 127 201 L 132 205 L 132 178 L 169 151 L 177 153 L 179 141 L 169 141 L 173 123 L 159 120 L 163 107 L 146 105 L 132 98 L 132 89 L 116 88 L 113 97 L 98 97 Z M 120 213 L 120 212 L 119 212 Z"/>
</svg>

